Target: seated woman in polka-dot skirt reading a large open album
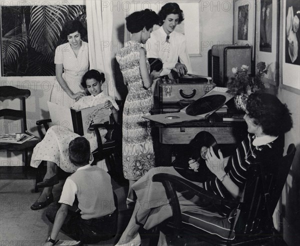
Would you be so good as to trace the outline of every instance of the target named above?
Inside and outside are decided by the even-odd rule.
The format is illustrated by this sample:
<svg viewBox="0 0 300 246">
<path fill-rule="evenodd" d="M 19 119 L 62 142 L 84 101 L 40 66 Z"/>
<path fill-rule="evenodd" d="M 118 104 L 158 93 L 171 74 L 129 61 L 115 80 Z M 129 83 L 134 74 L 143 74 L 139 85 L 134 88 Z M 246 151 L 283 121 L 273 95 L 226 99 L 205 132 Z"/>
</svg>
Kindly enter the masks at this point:
<svg viewBox="0 0 300 246">
<path fill-rule="evenodd" d="M 101 90 L 101 85 L 105 81 L 103 73 L 99 73 L 96 70 L 87 71 L 81 81 L 83 88 L 91 94 L 89 96 L 81 97 L 72 106 L 73 109 L 82 109 L 87 107 L 96 106 L 98 104 L 104 104 L 104 108 L 109 109 L 114 120 L 117 122 L 117 112 L 119 110 L 115 100 L 110 96 L 104 95 Z M 106 129 L 99 129 L 102 143 L 105 143 Z M 68 173 L 74 173 L 77 170 L 77 166 L 72 164 L 68 158 L 68 145 L 71 140 L 75 139 L 79 135 L 65 130 L 60 126 L 51 126 L 43 140 L 38 143 L 33 149 L 30 166 L 37 168 L 41 161 L 47 162 L 47 171 L 42 182 L 37 184 L 38 188 L 43 188 L 37 201 L 30 207 L 32 210 L 38 210 L 46 207 L 53 202 L 52 188 L 53 185 L 58 184 L 57 167 L 60 167 L 63 171 Z M 91 152 L 97 148 L 97 139 L 94 131 L 88 132 L 85 137 L 90 144 Z"/>
</svg>

